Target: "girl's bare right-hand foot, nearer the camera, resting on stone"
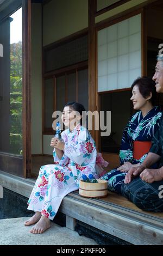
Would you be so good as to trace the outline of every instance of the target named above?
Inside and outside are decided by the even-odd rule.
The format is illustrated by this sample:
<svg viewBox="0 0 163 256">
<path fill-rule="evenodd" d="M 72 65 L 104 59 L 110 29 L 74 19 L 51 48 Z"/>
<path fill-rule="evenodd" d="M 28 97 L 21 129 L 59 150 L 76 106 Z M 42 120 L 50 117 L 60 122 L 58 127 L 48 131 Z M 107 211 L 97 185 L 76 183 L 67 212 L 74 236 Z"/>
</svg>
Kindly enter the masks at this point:
<svg viewBox="0 0 163 256">
<path fill-rule="evenodd" d="M 41 234 L 50 227 L 51 224 L 49 218 L 42 215 L 40 221 L 34 225 L 34 227 L 30 230 L 30 233 Z"/>
</svg>

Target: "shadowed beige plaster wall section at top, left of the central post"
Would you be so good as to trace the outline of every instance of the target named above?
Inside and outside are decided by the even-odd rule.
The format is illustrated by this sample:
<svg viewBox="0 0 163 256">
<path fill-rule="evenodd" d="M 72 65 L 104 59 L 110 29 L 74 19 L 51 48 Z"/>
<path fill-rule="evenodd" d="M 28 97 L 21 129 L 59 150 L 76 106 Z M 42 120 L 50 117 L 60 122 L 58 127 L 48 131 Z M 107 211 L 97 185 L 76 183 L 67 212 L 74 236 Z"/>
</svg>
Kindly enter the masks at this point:
<svg viewBox="0 0 163 256">
<path fill-rule="evenodd" d="M 52 0 L 43 7 L 43 46 L 88 27 L 88 0 Z"/>
</svg>

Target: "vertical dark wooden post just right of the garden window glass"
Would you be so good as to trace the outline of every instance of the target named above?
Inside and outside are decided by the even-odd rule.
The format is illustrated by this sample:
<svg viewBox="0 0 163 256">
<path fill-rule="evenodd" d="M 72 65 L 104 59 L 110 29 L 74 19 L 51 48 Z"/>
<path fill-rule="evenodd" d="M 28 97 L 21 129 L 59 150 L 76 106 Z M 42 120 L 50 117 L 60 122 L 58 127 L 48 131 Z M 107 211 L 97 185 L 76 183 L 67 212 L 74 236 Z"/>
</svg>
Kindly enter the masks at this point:
<svg viewBox="0 0 163 256">
<path fill-rule="evenodd" d="M 22 0 L 23 177 L 31 176 L 31 0 Z"/>
</svg>

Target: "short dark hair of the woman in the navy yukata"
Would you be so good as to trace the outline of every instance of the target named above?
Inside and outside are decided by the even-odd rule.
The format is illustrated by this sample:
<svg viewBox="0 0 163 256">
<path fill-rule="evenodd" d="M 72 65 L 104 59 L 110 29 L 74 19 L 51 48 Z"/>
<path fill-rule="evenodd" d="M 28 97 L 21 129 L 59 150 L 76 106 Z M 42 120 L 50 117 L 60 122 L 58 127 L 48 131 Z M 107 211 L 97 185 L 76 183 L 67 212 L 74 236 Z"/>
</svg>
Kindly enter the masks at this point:
<svg viewBox="0 0 163 256">
<path fill-rule="evenodd" d="M 147 99 L 150 93 L 152 93 L 152 97 L 149 101 L 151 101 L 151 103 L 154 105 L 156 100 L 156 89 L 155 82 L 152 80 L 152 77 L 138 77 L 131 85 L 131 90 L 133 90 L 134 86 L 139 87 L 139 92 L 145 99 Z"/>
</svg>

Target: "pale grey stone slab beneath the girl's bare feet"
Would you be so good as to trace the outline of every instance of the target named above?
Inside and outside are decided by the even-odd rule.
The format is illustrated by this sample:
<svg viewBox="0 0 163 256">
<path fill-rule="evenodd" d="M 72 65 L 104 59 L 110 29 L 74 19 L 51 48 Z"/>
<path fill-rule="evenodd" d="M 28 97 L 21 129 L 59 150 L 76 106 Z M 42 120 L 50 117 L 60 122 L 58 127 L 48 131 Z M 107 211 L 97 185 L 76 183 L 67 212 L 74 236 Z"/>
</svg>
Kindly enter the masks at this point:
<svg viewBox="0 0 163 256">
<path fill-rule="evenodd" d="M 0 220 L 0 245 L 97 245 L 93 239 L 79 236 L 76 231 L 62 228 L 51 222 L 52 227 L 42 234 L 31 234 L 24 222 L 29 217 Z"/>
</svg>

